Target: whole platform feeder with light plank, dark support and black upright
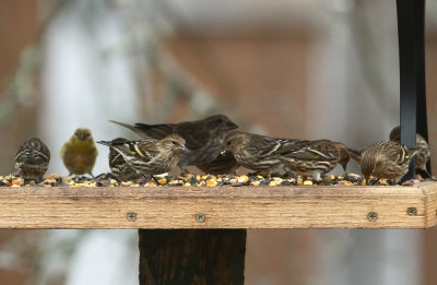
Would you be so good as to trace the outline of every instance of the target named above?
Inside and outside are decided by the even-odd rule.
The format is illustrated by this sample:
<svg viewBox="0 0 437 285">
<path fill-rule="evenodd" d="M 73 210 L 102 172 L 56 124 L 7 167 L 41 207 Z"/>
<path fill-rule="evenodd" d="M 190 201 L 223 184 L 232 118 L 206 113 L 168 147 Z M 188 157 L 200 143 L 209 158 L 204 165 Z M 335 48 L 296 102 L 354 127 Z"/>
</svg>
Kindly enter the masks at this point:
<svg viewBox="0 0 437 285">
<path fill-rule="evenodd" d="M 424 7 L 397 1 L 401 141 L 412 147 L 416 131 L 427 139 Z M 247 228 L 427 228 L 437 224 L 436 193 L 437 182 L 0 188 L 0 227 L 139 228 L 140 284 L 243 284 Z"/>
</svg>

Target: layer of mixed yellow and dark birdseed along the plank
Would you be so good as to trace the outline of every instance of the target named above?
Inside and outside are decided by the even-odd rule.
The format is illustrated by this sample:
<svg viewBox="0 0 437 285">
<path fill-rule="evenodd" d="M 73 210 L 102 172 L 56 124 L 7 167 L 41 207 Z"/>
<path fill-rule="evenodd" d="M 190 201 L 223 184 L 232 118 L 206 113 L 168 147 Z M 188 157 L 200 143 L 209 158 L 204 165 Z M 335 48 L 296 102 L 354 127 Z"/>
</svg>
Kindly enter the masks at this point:
<svg viewBox="0 0 437 285">
<path fill-rule="evenodd" d="M 324 176 L 322 180 L 315 181 L 312 179 L 300 179 L 277 176 L 261 175 L 181 175 L 181 176 L 155 176 L 152 178 L 135 179 L 132 181 L 117 181 L 114 175 L 102 174 L 94 178 L 88 176 L 59 176 L 45 175 L 44 180 L 35 183 L 33 180 L 24 180 L 17 176 L 0 176 L 0 187 L 221 187 L 221 186 L 365 186 L 364 178 L 356 174 L 346 174 L 338 176 Z M 418 180 L 408 181 L 406 185 L 414 185 Z M 388 186 L 391 182 L 380 179 L 375 186 Z M 405 185 L 405 183 L 404 183 Z"/>
</svg>

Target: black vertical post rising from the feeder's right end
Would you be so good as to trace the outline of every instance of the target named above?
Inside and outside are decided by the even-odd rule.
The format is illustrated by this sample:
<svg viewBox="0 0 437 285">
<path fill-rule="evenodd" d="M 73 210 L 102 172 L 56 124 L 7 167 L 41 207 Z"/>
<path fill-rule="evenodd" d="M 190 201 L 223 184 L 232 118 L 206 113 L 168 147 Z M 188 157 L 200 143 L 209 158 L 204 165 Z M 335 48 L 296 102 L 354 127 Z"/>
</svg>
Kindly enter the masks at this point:
<svg viewBox="0 0 437 285">
<path fill-rule="evenodd" d="M 415 147 L 427 138 L 425 95 L 425 0 L 397 0 L 401 98 L 401 143 Z M 416 130 L 417 129 L 417 130 Z M 414 177 L 414 161 L 404 179 Z"/>
</svg>

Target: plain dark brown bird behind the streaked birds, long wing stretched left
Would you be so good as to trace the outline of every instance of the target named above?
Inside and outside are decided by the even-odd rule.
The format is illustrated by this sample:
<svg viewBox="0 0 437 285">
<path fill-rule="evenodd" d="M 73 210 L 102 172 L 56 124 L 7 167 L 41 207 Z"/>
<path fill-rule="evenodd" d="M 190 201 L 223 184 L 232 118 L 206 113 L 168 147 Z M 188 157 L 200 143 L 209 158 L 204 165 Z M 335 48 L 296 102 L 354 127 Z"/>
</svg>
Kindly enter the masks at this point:
<svg viewBox="0 0 437 285">
<path fill-rule="evenodd" d="M 179 158 L 178 165 L 182 171 L 187 171 L 187 165 L 202 166 L 214 161 L 220 155 L 226 133 L 237 128 L 237 124 L 224 115 L 179 123 L 135 123 L 131 126 L 117 121 L 111 122 L 126 127 L 144 139 L 162 140 L 172 133 L 182 136 L 188 149 L 188 152 L 184 152 Z"/>
</svg>

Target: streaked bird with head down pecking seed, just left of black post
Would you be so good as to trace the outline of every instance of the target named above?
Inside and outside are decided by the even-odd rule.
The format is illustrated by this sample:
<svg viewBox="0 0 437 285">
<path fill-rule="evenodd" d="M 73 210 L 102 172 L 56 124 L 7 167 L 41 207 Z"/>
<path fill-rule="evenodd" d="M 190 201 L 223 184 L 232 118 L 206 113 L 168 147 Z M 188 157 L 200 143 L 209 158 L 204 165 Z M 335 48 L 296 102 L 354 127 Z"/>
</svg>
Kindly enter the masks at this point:
<svg viewBox="0 0 437 285">
<path fill-rule="evenodd" d="M 362 152 L 359 165 L 366 181 L 375 176 L 393 179 L 397 183 L 409 171 L 410 161 L 415 154 L 415 150 L 397 142 L 377 142 Z"/>
</svg>

